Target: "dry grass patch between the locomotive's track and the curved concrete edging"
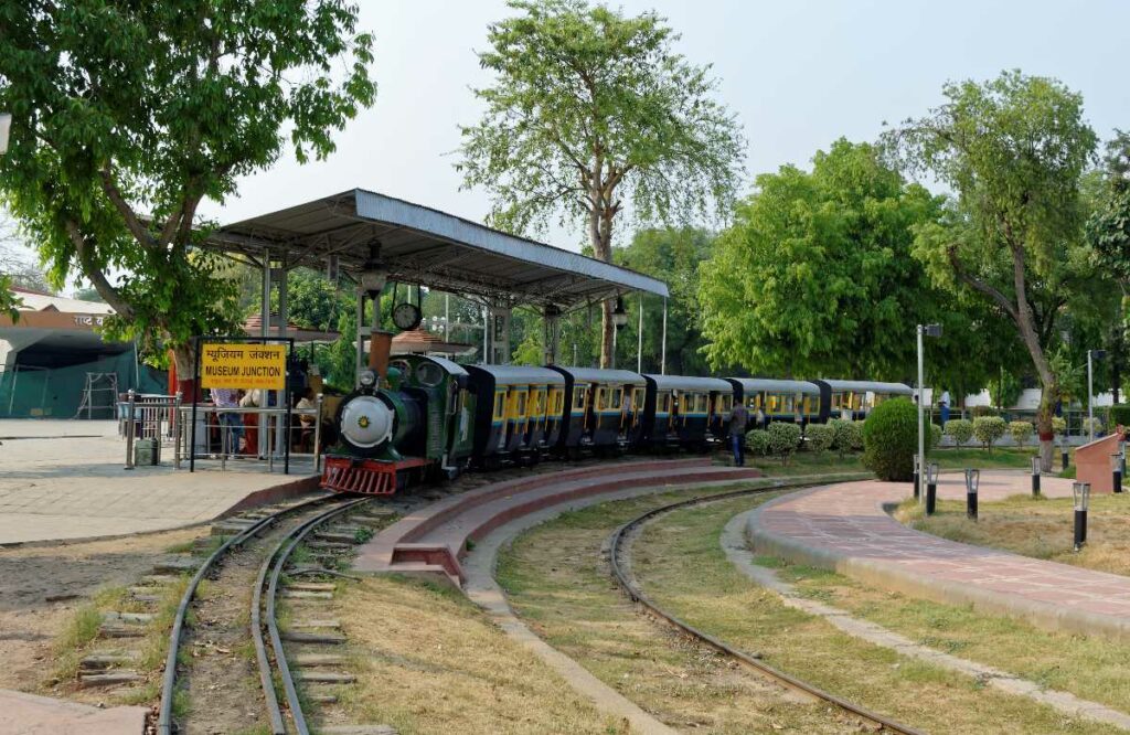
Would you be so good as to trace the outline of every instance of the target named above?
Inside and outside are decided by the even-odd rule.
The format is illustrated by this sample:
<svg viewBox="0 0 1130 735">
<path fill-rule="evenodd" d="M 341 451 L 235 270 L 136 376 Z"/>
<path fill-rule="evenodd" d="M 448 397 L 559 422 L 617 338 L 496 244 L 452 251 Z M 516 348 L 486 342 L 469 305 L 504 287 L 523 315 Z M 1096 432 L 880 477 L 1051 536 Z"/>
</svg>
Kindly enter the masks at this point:
<svg viewBox="0 0 1130 735">
<path fill-rule="evenodd" d="M 395 578 L 340 594 L 358 683 L 342 721 L 412 733 L 620 733 L 461 595 Z"/>
</svg>

